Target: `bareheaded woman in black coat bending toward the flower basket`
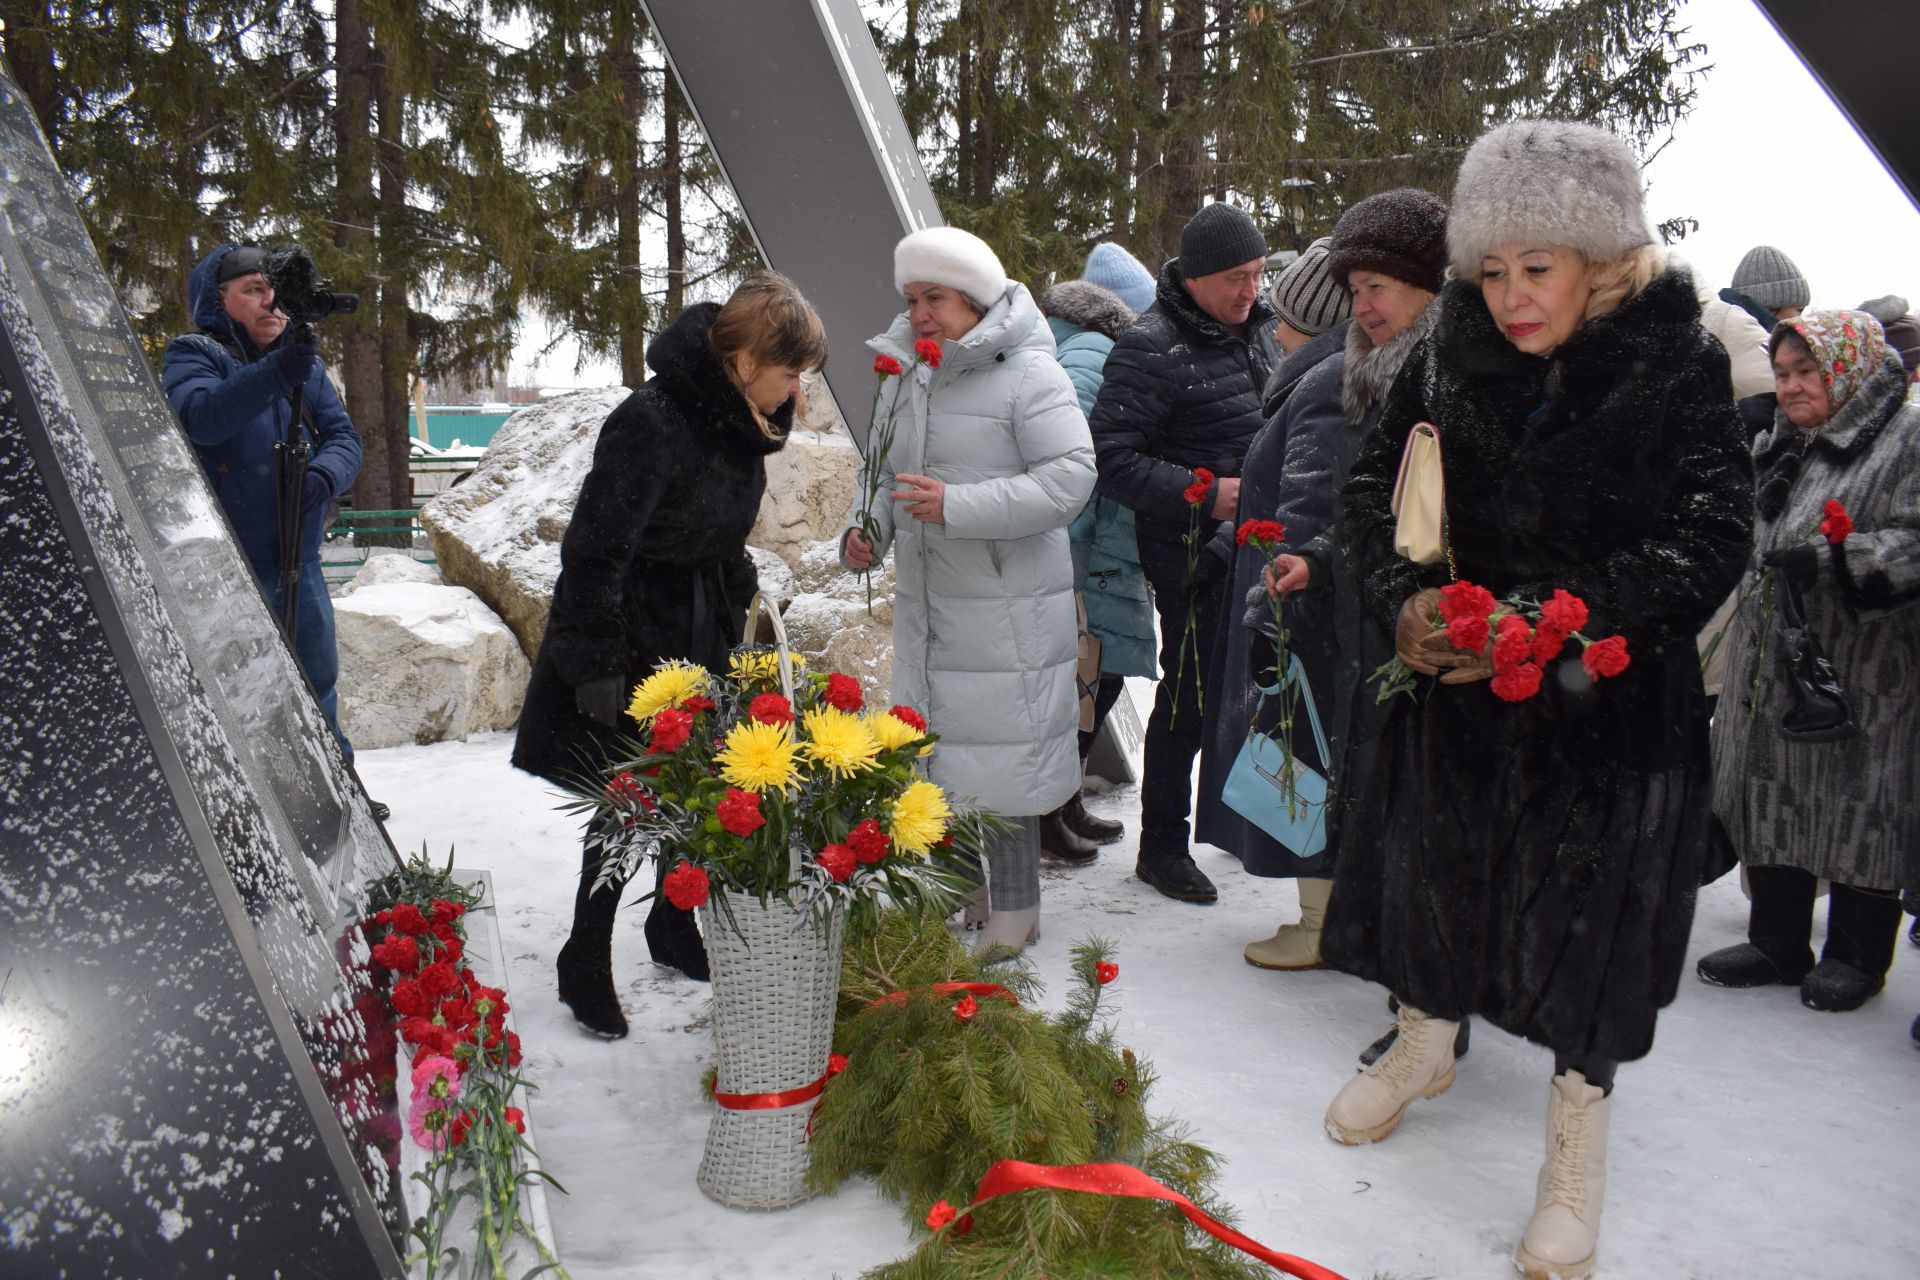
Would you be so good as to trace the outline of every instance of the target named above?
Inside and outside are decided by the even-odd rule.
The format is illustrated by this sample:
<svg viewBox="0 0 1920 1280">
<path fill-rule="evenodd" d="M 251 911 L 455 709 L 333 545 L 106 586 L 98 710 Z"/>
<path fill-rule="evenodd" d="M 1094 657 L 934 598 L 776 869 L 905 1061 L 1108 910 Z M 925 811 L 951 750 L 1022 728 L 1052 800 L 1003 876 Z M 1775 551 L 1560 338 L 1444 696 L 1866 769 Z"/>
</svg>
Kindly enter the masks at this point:
<svg viewBox="0 0 1920 1280">
<path fill-rule="evenodd" d="M 513 762 L 568 785 L 620 745 L 620 714 L 659 662 L 726 670 L 758 580 L 747 532 L 766 491 L 766 455 L 787 443 L 801 376 L 826 363 L 820 317 L 785 276 L 764 273 L 724 307 L 697 303 L 647 345 L 653 378 L 607 416 L 580 486 L 547 631 L 520 710 Z M 599 854 L 582 846 L 574 931 L 559 981 L 582 1027 L 626 1034 L 612 986 L 620 885 L 593 892 Z M 653 900 L 647 948 L 707 977 L 693 917 Z"/>
</svg>

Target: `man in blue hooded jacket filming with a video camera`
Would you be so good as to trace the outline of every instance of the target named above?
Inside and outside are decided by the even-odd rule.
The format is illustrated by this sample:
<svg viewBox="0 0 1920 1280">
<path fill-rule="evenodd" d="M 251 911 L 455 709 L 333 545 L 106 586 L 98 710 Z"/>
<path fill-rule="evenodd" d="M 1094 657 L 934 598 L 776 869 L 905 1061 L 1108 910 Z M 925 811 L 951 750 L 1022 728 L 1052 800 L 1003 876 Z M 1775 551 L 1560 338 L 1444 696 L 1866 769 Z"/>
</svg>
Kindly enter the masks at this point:
<svg viewBox="0 0 1920 1280">
<path fill-rule="evenodd" d="M 321 576 L 321 533 L 328 503 L 359 476 L 361 441 L 313 347 L 286 336 L 286 317 L 275 309 L 273 286 L 261 274 L 263 257 L 253 246 L 223 244 L 194 267 L 186 294 L 200 332 L 167 344 L 161 380 L 275 616 L 280 614 L 275 443 L 292 439 L 292 430 L 307 432 L 313 457 L 300 503 L 294 656 L 351 760 L 353 745 L 334 714 L 340 654 L 334 606 Z M 294 424 L 292 393 L 301 386 L 305 422 Z"/>
</svg>

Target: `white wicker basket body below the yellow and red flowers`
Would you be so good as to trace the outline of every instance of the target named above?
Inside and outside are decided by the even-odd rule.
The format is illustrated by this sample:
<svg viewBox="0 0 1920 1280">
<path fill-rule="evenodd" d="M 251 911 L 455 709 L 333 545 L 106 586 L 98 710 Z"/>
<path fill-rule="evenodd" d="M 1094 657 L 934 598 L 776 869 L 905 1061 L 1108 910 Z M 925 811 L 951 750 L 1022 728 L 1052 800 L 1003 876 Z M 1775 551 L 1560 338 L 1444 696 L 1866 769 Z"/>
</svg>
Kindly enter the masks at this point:
<svg viewBox="0 0 1920 1280">
<path fill-rule="evenodd" d="M 726 912 L 732 910 L 733 923 Z M 781 1094 L 820 1080 L 833 1048 L 841 908 L 822 927 L 785 902 L 728 898 L 699 908 L 712 967 L 718 1094 Z M 806 1128 L 816 1098 L 789 1107 L 714 1105 L 699 1186 L 722 1205 L 785 1209 L 806 1199 Z"/>
</svg>

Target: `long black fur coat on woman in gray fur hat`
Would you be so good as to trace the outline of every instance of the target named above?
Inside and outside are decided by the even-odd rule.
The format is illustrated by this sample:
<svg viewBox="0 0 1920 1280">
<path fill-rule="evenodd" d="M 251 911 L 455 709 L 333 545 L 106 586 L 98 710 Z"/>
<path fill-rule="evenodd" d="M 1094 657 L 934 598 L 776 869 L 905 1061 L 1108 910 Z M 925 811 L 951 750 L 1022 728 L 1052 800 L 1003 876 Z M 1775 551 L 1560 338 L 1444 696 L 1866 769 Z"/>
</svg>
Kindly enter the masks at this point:
<svg viewBox="0 0 1920 1280">
<path fill-rule="evenodd" d="M 1321 954 L 1438 1017 L 1478 1013 L 1557 1054 L 1634 1059 L 1686 960 L 1711 770 L 1693 635 L 1740 580 L 1753 466 L 1726 351 L 1682 271 L 1515 349 L 1450 282 L 1342 493 L 1352 568 L 1392 631 L 1448 578 L 1392 549 L 1407 432 L 1440 428 L 1459 576 L 1582 597 L 1632 666 L 1594 683 L 1578 641 L 1540 693 L 1486 681 L 1396 699 L 1340 848 Z"/>
</svg>

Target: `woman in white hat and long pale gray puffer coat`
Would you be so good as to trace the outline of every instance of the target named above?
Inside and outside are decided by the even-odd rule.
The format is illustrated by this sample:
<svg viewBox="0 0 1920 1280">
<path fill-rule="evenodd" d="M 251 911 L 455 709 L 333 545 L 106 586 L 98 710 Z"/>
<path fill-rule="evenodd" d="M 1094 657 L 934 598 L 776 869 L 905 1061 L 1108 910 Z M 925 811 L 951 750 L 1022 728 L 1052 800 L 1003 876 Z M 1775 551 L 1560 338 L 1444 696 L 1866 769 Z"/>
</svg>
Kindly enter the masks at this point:
<svg viewBox="0 0 1920 1280">
<path fill-rule="evenodd" d="M 893 700 L 939 733 L 933 781 L 1014 821 L 987 854 L 991 915 L 979 946 L 1039 936 L 1039 818 L 1079 791 L 1077 624 L 1068 524 L 1092 493 L 1092 438 L 1027 288 L 952 226 L 893 249 L 906 311 L 874 338 L 906 370 L 874 518 L 858 509 L 841 560 L 895 558 Z M 916 344 L 939 363 L 916 368 Z M 891 495 L 891 501 L 887 501 Z"/>
</svg>

